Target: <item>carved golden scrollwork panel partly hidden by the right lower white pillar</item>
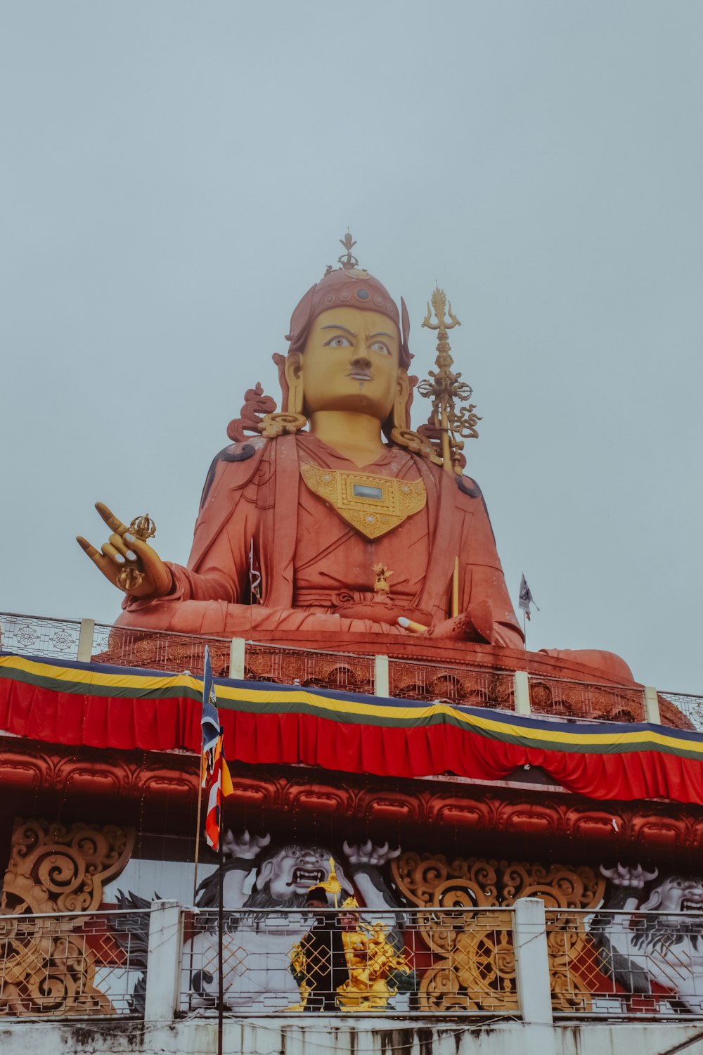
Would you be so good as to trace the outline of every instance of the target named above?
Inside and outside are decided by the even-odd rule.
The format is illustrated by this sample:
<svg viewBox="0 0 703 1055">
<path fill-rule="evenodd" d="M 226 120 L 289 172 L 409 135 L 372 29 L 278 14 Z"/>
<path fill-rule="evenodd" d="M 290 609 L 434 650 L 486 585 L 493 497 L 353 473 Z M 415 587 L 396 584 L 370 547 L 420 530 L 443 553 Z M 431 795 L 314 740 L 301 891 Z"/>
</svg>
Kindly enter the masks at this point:
<svg viewBox="0 0 703 1055">
<path fill-rule="evenodd" d="M 426 909 L 418 926 L 435 957 L 421 982 L 426 1011 L 518 1008 L 508 915 L 482 912 L 467 922 L 465 912 L 452 908 L 509 907 L 518 898 L 540 897 L 547 908 L 584 909 L 601 904 L 605 891 L 605 879 L 586 866 L 406 852 L 391 867 L 408 901 Z M 583 914 L 561 914 L 559 925 L 548 929 L 547 948 L 555 1008 L 587 1011 L 588 980 L 578 964 L 589 961 L 592 948 Z"/>
</svg>

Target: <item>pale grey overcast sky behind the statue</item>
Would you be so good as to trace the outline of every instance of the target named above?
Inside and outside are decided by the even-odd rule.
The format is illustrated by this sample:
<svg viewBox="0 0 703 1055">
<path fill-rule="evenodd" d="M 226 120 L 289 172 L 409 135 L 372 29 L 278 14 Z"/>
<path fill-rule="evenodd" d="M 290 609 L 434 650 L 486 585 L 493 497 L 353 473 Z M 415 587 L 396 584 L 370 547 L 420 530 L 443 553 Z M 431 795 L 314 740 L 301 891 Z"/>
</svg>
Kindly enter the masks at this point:
<svg viewBox="0 0 703 1055">
<path fill-rule="evenodd" d="M 2 610 L 112 621 L 74 540 L 104 540 L 96 499 L 185 561 L 350 227 L 415 372 L 435 279 L 463 323 L 468 472 L 529 647 L 703 693 L 700 0 L 0 12 Z"/>
</svg>

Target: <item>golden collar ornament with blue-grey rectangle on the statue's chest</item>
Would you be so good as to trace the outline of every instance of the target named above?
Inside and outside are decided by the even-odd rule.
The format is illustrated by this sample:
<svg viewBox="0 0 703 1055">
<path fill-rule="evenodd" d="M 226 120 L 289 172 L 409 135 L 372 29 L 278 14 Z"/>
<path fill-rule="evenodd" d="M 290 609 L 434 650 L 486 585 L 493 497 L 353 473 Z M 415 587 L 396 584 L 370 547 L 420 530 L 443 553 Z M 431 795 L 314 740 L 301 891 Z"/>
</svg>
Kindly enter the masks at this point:
<svg viewBox="0 0 703 1055">
<path fill-rule="evenodd" d="M 300 462 L 300 475 L 314 495 L 370 539 L 393 531 L 427 503 L 423 480 L 321 468 L 310 462 Z"/>
</svg>

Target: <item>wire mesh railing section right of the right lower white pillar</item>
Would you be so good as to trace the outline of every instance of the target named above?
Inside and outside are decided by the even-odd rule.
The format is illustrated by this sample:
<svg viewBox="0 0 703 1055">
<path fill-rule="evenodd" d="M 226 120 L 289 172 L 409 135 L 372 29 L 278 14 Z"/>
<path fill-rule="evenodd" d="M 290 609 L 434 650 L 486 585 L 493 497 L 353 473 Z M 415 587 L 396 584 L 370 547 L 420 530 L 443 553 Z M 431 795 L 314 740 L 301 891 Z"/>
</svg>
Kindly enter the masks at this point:
<svg viewBox="0 0 703 1055">
<path fill-rule="evenodd" d="M 703 913 L 546 913 L 555 1015 L 703 1016 Z"/>
</svg>

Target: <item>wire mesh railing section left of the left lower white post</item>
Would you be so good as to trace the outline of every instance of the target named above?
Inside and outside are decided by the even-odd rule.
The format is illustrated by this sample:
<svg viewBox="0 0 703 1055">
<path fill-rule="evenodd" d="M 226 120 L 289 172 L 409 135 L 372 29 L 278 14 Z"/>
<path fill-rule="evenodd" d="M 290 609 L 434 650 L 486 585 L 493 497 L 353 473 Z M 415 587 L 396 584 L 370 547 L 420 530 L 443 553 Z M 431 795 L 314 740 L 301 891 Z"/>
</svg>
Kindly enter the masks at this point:
<svg viewBox="0 0 703 1055">
<path fill-rule="evenodd" d="M 0 1017 L 139 1016 L 148 933 L 148 910 L 0 916 Z"/>
</svg>

